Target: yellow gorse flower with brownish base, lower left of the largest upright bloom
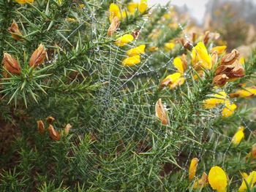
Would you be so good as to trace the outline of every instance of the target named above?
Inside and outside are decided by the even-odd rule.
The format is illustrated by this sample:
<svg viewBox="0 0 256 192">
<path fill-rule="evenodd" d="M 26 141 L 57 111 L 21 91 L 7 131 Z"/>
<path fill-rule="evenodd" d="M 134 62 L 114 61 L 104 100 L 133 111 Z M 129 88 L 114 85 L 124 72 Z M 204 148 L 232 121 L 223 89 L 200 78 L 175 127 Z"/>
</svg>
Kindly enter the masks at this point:
<svg viewBox="0 0 256 192">
<path fill-rule="evenodd" d="M 173 74 L 169 74 L 162 80 L 161 85 L 167 86 L 169 85 L 170 89 L 175 88 L 177 85 L 182 85 L 185 81 L 185 78 L 182 76 L 180 72 L 176 72 Z"/>
</svg>

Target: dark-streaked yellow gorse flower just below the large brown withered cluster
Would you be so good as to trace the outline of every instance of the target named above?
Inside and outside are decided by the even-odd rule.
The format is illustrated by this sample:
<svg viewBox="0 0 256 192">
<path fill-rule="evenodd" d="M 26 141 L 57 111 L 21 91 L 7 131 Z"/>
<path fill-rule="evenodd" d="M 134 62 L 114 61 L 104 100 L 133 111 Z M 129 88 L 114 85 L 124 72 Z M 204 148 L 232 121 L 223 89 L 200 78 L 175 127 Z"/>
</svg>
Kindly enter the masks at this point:
<svg viewBox="0 0 256 192">
<path fill-rule="evenodd" d="M 213 98 L 203 101 L 203 108 L 212 109 L 214 107 L 217 107 L 217 104 L 224 103 L 226 98 L 227 94 L 225 93 L 225 91 L 219 91 L 219 93 L 214 94 Z"/>
</svg>

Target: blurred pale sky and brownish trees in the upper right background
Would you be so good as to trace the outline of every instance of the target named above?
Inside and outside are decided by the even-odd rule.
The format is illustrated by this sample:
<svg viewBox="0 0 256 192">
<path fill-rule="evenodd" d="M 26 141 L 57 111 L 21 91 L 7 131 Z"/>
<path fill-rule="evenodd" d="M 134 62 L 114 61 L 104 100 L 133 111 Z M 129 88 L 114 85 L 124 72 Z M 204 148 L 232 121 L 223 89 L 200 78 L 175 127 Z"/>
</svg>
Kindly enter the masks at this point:
<svg viewBox="0 0 256 192">
<path fill-rule="evenodd" d="M 168 0 L 148 0 L 148 4 L 167 4 Z M 247 55 L 256 47 L 256 0 L 172 0 L 181 15 L 178 22 L 187 22 L 194 30 L 214 31 L 221 35 L 220 44 L 237 48 Z"/>
</svg>

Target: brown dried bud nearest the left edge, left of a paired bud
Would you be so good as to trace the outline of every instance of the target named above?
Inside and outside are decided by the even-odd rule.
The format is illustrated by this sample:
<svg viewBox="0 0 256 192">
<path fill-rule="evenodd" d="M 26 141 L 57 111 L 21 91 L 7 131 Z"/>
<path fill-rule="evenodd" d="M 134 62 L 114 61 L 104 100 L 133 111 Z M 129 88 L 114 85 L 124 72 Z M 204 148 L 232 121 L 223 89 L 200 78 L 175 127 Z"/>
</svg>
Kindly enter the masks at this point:
<svg viewBox="0 0 256 192">
<path fill-rule="evenodd" d="M 4 53 L 4 58 L 1 61 L 2 64 L 4 64 L 4 68 L 7 69 L 8 72 L 12 74 L 20 74 L 20 64 L 18 64 L 18 61 L 15 60 L 15 58 L 12 58 L 12 56 L 8 53 Z"/>
</svg>

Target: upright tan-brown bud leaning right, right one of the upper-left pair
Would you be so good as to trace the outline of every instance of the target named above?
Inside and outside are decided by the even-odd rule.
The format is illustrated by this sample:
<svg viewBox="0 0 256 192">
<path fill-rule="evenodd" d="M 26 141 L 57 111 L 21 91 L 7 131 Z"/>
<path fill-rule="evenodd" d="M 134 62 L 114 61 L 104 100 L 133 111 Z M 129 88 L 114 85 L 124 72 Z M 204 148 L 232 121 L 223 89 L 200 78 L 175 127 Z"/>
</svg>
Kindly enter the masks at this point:
<svg viewBox="0 0 256 192">
<path fill-rule="evenodd" d="M 29 66 L 37 67 L 45 61 L 46 51 L 45 46 L 40 44 L 37 50 L 31 55 L 29 60 Z"/>
</svg>

